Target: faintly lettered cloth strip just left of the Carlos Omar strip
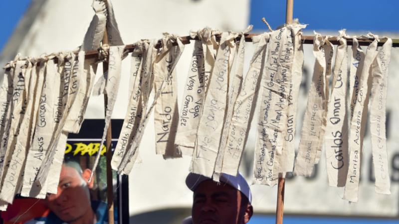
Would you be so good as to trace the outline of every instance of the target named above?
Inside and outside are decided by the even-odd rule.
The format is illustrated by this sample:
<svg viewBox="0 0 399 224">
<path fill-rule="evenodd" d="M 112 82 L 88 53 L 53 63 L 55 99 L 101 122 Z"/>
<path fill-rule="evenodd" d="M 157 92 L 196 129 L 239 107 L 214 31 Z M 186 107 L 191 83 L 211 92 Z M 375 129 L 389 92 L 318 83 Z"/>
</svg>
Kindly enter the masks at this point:
<svg viewBox="0 0 399 224">
<path fill-rule="evenodd" d="M 294 174 L 310 176 L 313 167 L 318 163 L 321 155 L 321 146 L 324 139 L 324 130 L 327 114 L 328 70 L 331 69 L 331 60 L 334 48 L 327 38 L 315 33 L 313 54 L 316 57 L 312 83 L 309 89 L 308 104 L 302 125 L 301 139 L 298 154 L 295 159 Z"/>
</svg>

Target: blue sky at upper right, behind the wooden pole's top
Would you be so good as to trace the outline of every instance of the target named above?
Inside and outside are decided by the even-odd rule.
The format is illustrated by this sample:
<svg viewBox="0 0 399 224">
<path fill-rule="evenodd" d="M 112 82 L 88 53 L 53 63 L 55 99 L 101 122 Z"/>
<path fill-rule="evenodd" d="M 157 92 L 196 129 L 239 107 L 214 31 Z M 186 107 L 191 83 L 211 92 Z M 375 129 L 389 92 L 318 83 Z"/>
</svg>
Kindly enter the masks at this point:
<svg viewBox="0 0 399 224">
<path fill-rule="evenodd" d="M 274 29 L 285 22 L 285 7 L 285 0 L 251 0 L 250 23 L 265 29 L 265 17 Z M 294 0 L 294 18 L 307 30 L 399 32 L 398 8 L 399 0 Z"/>
</svg>

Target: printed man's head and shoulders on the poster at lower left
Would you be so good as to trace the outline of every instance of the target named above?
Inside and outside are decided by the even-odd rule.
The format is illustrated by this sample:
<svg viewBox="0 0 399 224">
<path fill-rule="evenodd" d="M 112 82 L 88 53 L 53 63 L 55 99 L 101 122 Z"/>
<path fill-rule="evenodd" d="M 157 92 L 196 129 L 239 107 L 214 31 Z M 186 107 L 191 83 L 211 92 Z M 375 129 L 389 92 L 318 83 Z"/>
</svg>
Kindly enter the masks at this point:
<svg viewBox="0 0 399 224">
<path fill-rule="evenodd" d="M 75 161 L 64 162 L 57 194 L 47 194 L 45 204 L 50 213 L 27 224 L 106 224 L 107 204 L 90 199 L 94 182 L 88 182 L 91 170 L 82 170 Z"/>
</svg>

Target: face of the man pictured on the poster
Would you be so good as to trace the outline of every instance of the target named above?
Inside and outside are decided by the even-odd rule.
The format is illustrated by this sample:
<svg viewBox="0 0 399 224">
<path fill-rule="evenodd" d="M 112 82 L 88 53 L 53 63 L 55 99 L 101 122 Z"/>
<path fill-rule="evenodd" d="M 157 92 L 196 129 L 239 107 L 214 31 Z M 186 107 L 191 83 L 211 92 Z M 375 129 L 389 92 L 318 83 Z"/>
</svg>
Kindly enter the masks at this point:
<svg viewBox="0 0 399 224">
<path fill-rule="evenodd" d="M 86 180 L 73 168 L 62 165 L 57 194 L 46 197 L 50 210 L 62 221 L 72 222 L 91 210 Z"/>
</svg>

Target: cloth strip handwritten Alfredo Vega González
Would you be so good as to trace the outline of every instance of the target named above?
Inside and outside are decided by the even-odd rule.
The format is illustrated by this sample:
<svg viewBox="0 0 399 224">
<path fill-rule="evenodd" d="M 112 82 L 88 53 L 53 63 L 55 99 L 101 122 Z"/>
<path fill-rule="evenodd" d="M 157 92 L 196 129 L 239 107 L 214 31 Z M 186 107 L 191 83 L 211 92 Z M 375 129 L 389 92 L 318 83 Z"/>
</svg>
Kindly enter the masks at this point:
<svg viewBox="0 0 399 224">
<path fill-rule="evenodd" d="M 194 43 L 175 140 L 175 144 L 183 155 L 193 155 L 198 124 L 203 111 L 203 100 L 215 60 L 217 42 L 214 35 L 216 32 L 210 28 L 204 28 L 197 32 L 192 31 L 190 35 L 200 40 Z"/>
</svg>

